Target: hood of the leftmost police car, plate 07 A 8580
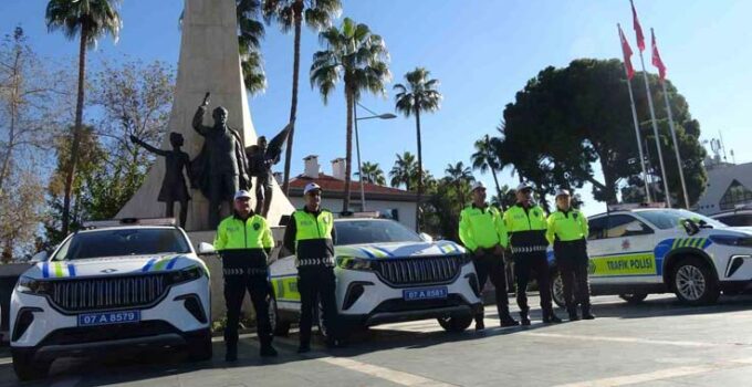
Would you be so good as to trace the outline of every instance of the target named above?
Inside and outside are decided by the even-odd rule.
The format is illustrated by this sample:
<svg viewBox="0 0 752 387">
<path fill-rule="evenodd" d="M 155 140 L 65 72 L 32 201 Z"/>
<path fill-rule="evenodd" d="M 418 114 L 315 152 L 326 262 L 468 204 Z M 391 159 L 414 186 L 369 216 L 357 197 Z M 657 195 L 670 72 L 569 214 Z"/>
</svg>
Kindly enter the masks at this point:
<svg viewBox="0 0 752 387">
<path fill-rule="evenodd" d="M 201 265 L 192 254 L 128 255 L 74 261 L 39 262 L 23 275 L 34 279 L 139 274 Z"/>
</svg>

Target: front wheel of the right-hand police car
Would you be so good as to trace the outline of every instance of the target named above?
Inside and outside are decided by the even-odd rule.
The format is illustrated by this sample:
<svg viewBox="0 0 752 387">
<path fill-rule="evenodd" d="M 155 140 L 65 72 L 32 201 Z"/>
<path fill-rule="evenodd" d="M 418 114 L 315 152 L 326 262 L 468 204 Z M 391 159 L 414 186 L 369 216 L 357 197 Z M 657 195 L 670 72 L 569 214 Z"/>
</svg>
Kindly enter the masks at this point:
<svg viewBox="0 0 752 387">
<path fill-rule="evenodd" d="M 677 263 L 671 272 L 671 281 L 679 301 L 690 305 L 712 304 L 720 295 L 718 280 L 711 268 L 696 257 Z"/>
</svg>

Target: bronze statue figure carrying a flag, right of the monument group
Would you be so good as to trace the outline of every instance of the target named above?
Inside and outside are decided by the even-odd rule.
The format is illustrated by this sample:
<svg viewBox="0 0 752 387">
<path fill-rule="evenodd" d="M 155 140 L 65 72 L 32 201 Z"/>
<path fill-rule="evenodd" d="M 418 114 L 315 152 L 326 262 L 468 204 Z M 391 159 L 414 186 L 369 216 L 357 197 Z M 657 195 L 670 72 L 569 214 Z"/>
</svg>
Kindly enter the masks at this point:
<svg viewBox="0 0 752 387">
<path fill-rule="evenodd" d="M 272 202 L 272 166 L 280 163 L 282 147 L 288 140 L 292 123 L 288 124 L 271 142 L 261 136 L 257 145 L 246 148 L 250 175 L 255 177 L 255 212 L 262 217 L 269 213 Z"/>
</svg>

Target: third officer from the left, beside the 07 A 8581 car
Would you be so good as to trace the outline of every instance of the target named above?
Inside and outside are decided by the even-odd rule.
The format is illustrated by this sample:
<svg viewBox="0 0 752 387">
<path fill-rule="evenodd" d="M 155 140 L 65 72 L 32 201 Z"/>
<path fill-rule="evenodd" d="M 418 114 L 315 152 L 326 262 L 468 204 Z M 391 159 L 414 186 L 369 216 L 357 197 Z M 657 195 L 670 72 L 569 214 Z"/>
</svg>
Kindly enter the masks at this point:
<svg viewBox="0 0 752 387">
<path fill-rule="evenodd" d="M 472 203 L 460 213 L 460 240 L 473 254 L 478 285 L 482 292 L 490 278 L 495 287 L 497 307 L 501 326 L 519 323 L 509 314 L 506 275 L 504 275 L 504 249 L 508 244 L 506 228 L 501 212 L 485 202 L 485 187 L 481 181 L 472 186 Z M 476 331 L 485 328 L 483 311 L 476 315 Z"/>
</svg>

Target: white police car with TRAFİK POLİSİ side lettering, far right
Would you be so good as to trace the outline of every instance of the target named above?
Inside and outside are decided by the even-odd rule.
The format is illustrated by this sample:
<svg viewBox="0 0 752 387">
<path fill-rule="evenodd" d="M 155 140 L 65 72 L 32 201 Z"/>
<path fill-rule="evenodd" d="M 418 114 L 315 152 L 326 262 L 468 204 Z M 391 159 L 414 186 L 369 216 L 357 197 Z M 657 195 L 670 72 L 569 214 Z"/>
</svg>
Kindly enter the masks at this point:
<svg viewBox="0 0 752 387">
<path fill-rule="evenodd" d="M 593 295 L 630 303 L 673 292 L 687 304 L 710 304 L 721 291 L 752 286 L 752 228 L 728 227 L 680 209 L 633 209 L 589 218 Z M 564 305 L 562 281 L 553 293 Z"/>
</svg>

